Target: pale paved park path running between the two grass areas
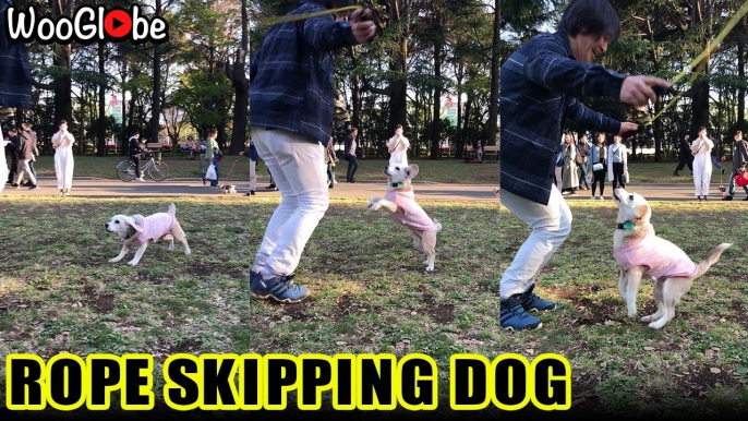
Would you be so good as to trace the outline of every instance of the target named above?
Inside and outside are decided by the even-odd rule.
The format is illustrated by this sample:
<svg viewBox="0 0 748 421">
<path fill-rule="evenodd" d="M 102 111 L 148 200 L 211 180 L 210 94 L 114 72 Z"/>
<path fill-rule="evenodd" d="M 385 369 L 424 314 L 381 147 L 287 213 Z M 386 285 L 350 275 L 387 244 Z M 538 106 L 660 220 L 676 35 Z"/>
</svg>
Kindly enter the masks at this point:
<svg viewBox="0 0 748 421">
<path fill-rule="evenodd" d="M 258 179 L 257 194 L 260 196 L 279 195 L 278 192 L 267 191 L 265 187 L 268 179 Z M 237 184 L 238 195 L 249 191 L 246 181 L 233 182 Z M 711 184 L 712 200 L 717 201 L 717 184 Z M 414 183 L 417 196 L 421 200 L 433 201 L 467 201 L 480 202 L 495 200 L 494 185 L 488 184 L 441 184 L 441 183 Z M 333 199 L 371 199 L 382 196 L 386 184 L 383 182 L 358 182 L 355 184 L 338 183 L 330 190 Z M 605 199 L 610 199 L 612 193 L 611 185 L 605 187 Z M 695 201 L 693 185 L 684 184 L 629 184 L 631 192 L 639 193 L 649 201 Z M 3 196 L 31 195 L 44 196 L 57 194 L 57 180 L 43 178 L 39 180 L 39 189 L 28 190 L 27 188 L 11 189 L 5 187 Z M 122 182 L 120 180 L 105 180 L 93 178 L 77 178 L 73 180 L 71 194 L 85 197 L 189 197 L 221 194 L 216 188 L 204 187 L 200 179 L 170 179 L 165 182 Z M 580 191 L 577 196 L 566 196 L 567 200 L 590 200 L 589 191 Z M 743 200 L 743 193 L 738 193 L 737 200 Z M 248 197 L 250 199 L 250 197 Z"/>
</svg>

